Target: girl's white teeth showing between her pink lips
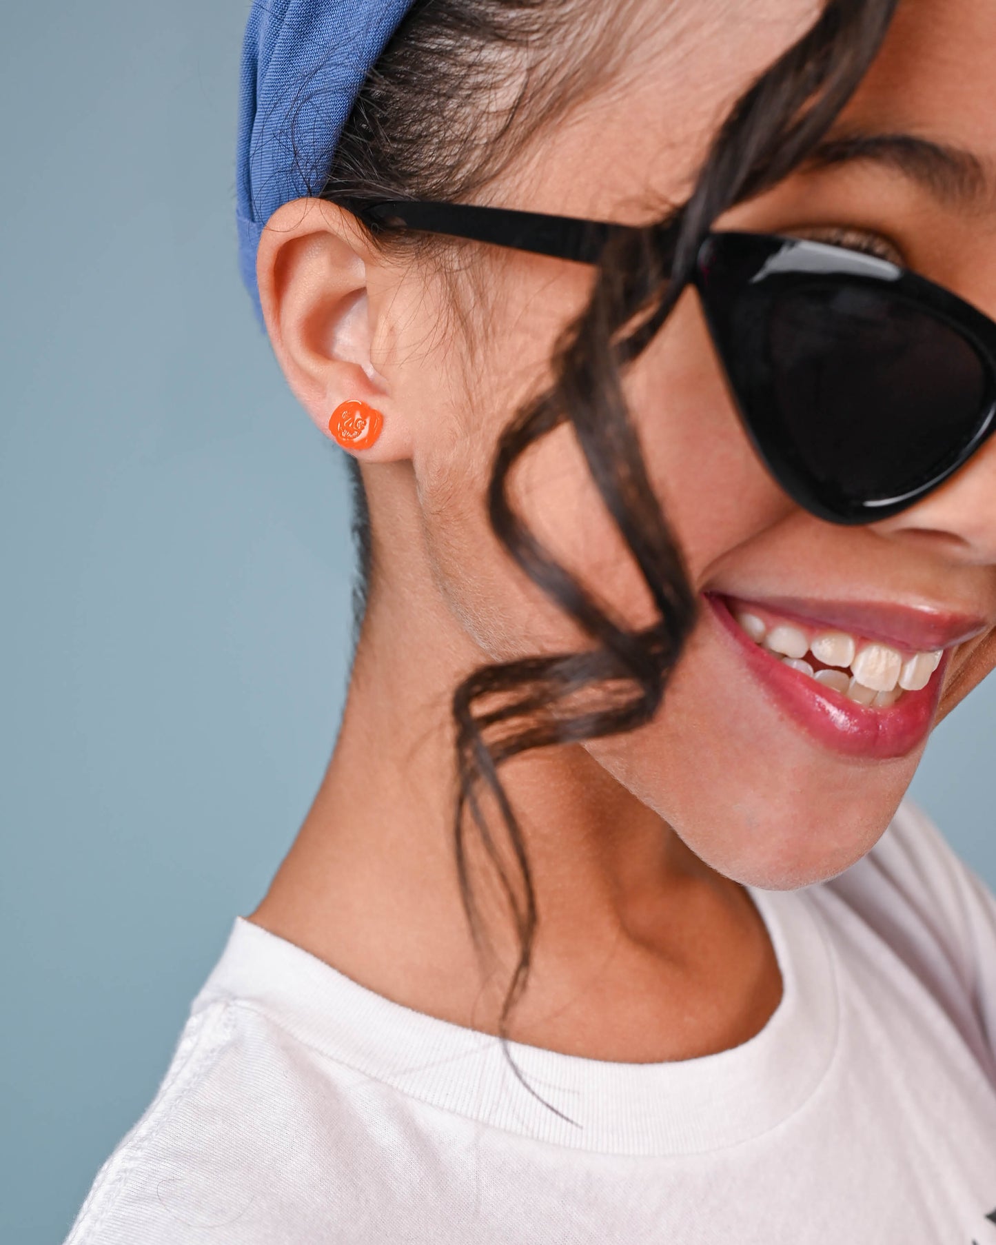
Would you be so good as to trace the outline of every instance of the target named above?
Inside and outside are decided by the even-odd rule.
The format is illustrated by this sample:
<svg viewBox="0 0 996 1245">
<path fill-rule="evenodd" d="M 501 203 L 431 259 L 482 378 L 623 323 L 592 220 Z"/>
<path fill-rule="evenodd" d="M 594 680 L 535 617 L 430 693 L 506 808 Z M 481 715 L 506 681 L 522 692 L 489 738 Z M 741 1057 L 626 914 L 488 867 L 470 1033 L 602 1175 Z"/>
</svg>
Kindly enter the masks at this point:
<svg viewBox="0 0 996 1245">
<path fill-rule="evenodd" d="M 904 656 L 888 644 L 868 641 L 859 647 L 854 636 L 845 631 L 807 635 L 791 622 L 768 626 L 763 619 L 749 613 L 738 613 L 737 622 L 754 644 L 763 644 L 784 657 L 787 666 L 812 675 L 824 686 L 845 692 L 865 705 L 890 705 L 901 691 L 926 687 L 941 660 L 940 649 Z M 814 671 L 808 661 L 802 660 L 809 652 L 817 661 L 838 669 Z M 850 677 L 845 674 L 848 666 Z"/>
</svg>

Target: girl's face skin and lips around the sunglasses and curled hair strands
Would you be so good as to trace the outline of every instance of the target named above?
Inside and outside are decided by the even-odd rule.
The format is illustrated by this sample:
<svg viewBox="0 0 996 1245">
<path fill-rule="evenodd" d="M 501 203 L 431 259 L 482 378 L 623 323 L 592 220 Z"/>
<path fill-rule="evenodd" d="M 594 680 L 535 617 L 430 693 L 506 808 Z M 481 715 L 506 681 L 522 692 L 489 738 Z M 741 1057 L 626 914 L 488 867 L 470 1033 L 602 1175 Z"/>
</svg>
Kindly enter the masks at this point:
<svg viewBox="0 0 996 1245">
<path fill-rule="evenodd" d="M 784 0 L 679 6 L 635 41 L 626 81 L 547 134 L 488 202 L 621 222 L 661 215 L 687 193 L 726 107 L 813 16 L 812 6 Z M 994 46 L 996 6 L 985 0 L 904 0 L 837 132 L 930 139 L 971 153 L 996 177 Z M 898 151 L 881 144 L 880 158 L 797 174 L 721 224 L 884 248 L 996 315 L 996 218 L 985 176 L 945 177 L 936 158 L 900 161 Z M 401 327 L 375 349 L 374 364 L 412 430 L 425 548 L 446 616 L 478 656 L 500 660 L 583 646 L 503 555 L 483 492 L 499 430 L 537 391 L 591 271 L 518 253 L 493 263 L 487 311 L 468 312 L 469 350 L 452 337 L 427 340 L 425 286 L 387 265 L 381 279 L 400 280 L 395 306 L 411 314 L 397 316 Z M 931 726 L 996 661 L 996 439 L 914 508 L 843 528 L 799 509 L 758 462 L 695 293 L 626 383 L 701 610 L 656 718 L 588 752 L 720 872 L 771 888 L 830 876 L 872 847 Z M 853 449 L 860 454 L 860 443 Z M 376 472 L 370 488 L 376 527 L 388 509 Z M 564 564 L 631 622 L 651 621 L 566 430 L 520 466 L 515 489 Z M 798 656 L 815 642 L 829 665 L 849 664 L 873 641 L 898 656 L 853 660 L 888 669 L 918 651 L 942 649 L 944 657 L 924 692 L 865 707 L 787 667 L 736 614 L 759 619 L 747 626 L 763 624 L 772 642 Z"/>
</svg>

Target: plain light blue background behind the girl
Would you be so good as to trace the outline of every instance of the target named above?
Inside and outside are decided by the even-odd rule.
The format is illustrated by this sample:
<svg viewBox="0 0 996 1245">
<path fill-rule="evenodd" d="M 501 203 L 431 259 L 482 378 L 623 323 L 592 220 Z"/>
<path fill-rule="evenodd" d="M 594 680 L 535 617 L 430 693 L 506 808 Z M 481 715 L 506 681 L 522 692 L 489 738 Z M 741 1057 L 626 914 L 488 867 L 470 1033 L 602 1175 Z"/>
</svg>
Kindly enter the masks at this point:
<svg viewBox="0 0 996 1245">
<path fill-rule="evenodd" d="M 335 452 L 237 276 L 244 0 L 6 4 L 0 1240 L 61 1241 L 289 845 L 346 680 Z M 915 793 L 996 883 L 996 681 Z M 138 1245 L 138 1243 L 136 1243 Z"/>
</svg>

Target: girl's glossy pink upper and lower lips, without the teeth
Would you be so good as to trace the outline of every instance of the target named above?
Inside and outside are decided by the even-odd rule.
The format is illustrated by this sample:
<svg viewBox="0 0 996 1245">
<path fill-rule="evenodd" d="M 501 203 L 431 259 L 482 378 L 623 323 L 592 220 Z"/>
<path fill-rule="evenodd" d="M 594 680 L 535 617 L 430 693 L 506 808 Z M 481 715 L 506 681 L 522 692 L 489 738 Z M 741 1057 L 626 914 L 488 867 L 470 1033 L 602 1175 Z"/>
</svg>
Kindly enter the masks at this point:
<svg viewBox="0 0 996 1245">
<path fill-rule="evenodd" d="M 737 624 L 727 599 L 706 593 L 705 600 L 723 641 L 736 646 L 772 703 L 823 747 L 869 759 L 903 757 L 923 743 L 936 713 L 950 649 L 985 630 L 985 622 L 961 614 L 925 614 L 890 605 L 859 608 L 849 603 L 820 601 L 817 616 L 812 603 L 766 598 L 763 605 L 769 613 L 777 611 L 808 627 L 848 629 L 911 651 L 947 650 L 925 687 L 904 692 L 889 707 L 867 707 L 787 666 L 774 654 L 754 644 Z"/>
</svg>

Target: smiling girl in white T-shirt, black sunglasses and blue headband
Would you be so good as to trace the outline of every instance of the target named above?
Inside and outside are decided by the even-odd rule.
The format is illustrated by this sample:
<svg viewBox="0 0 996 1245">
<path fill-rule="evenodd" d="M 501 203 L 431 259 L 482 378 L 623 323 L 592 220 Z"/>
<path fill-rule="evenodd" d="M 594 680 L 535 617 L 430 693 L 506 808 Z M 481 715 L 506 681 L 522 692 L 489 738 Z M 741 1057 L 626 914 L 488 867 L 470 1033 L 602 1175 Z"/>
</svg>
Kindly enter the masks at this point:
<svg viewBox="0 0 996 1245">
<path fill-rule="evenodd" d="M 996 661 L 995 41 L 256 2 L 354 672 L 73 1245 L 996 1240 L 996 904 L 900 807 Z"/>
</svg>

